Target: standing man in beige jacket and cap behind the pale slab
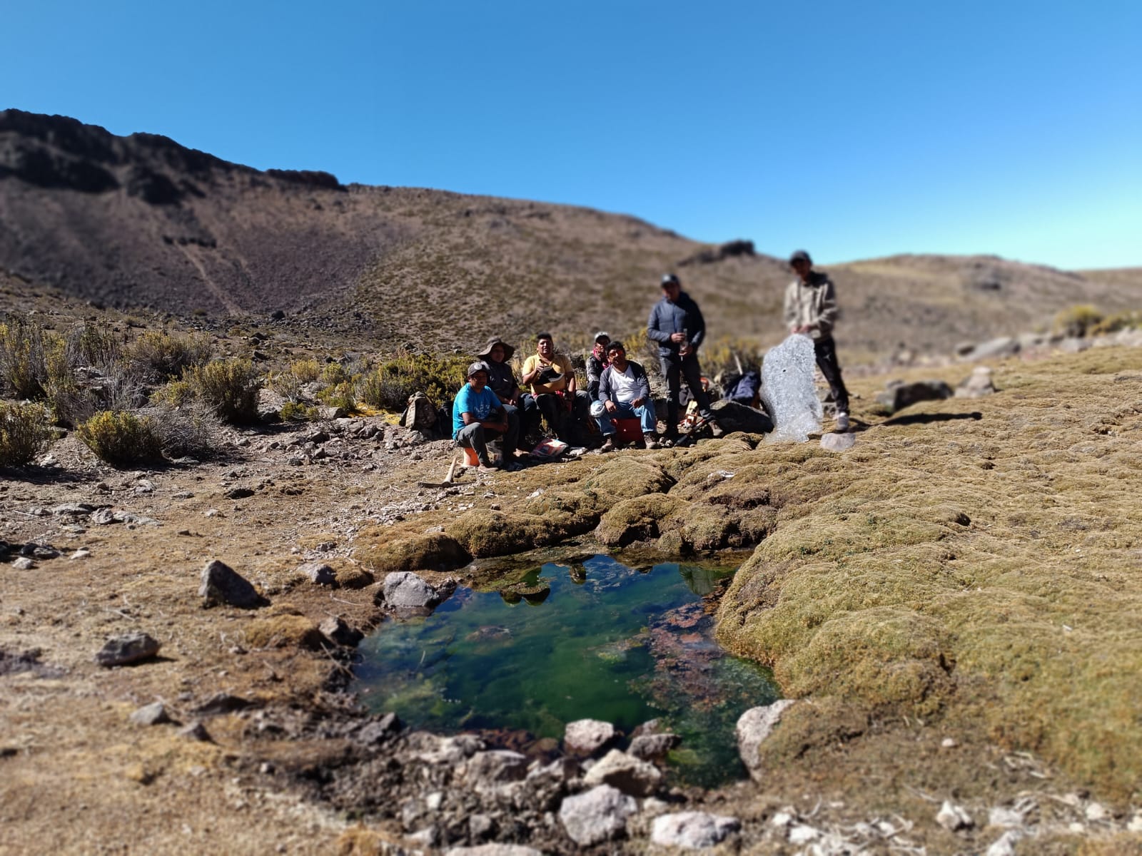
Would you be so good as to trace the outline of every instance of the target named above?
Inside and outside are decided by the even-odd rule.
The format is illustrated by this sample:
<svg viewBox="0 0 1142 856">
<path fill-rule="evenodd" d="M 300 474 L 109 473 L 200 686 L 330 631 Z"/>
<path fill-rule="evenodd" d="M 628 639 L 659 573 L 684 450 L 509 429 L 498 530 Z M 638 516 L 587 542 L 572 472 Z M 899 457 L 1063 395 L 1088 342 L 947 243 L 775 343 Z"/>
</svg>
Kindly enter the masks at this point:
<svg viewBox="0 0 1142 856">
<path fill-rule="evenodd" d="M 828 274 L 813 269 L 813 259 L 804 250 L 789 257 L 797 278 L 786 289 L 785 322 L 790 333 L 804 333 L 813 340 L 817 364 L 829 381 L 837 406 L 837 430 L 849 430 L 849 390 L 841 377 L 833 325 L 837 320 L 837 290 Z"/>
</svg>

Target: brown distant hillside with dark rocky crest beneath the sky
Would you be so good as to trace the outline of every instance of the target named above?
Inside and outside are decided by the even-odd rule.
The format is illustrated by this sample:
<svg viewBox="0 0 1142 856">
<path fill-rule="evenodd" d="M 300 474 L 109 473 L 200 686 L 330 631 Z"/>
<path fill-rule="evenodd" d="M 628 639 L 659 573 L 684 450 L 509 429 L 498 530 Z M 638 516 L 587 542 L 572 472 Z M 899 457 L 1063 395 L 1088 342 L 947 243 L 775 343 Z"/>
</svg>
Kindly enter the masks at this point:
<svg viewBox="0 0 1142 856">
<path fill-rule="evenodd" d="M 0 272 L 78 299 L 180 315 L 281 309 L 376 347 L 626 333 L 670 269 L 713 337 L 772 341 L 789 278 L 746 241 L 710 247 L 586 208 L 260 171 L 166 137 L 16 110 L 0 112 Z M 1076 302 L 1142 306 L 1140 268 L 899 256 L 829 272 L 839 344 L 860 357 L 947 352 Z"/>
</svg>

